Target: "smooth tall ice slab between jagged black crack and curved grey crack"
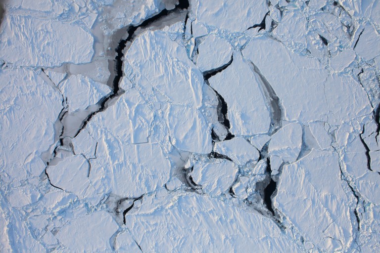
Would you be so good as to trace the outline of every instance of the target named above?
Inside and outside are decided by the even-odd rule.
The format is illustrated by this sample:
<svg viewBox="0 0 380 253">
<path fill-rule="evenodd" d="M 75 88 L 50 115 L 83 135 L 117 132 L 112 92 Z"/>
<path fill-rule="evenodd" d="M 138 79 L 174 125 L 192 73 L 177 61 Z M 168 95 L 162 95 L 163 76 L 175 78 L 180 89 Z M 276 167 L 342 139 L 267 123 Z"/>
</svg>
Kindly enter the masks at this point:
<svg viewBox="0 0 380 253">
<path fill-rule="evenodd" d="M 248 64 L 236 52 L 232 64 L 209 79 L 227 104 L 231 132 L 236 135 L 266 133 L 271 122 L 260 84 Z"/>
</svg>

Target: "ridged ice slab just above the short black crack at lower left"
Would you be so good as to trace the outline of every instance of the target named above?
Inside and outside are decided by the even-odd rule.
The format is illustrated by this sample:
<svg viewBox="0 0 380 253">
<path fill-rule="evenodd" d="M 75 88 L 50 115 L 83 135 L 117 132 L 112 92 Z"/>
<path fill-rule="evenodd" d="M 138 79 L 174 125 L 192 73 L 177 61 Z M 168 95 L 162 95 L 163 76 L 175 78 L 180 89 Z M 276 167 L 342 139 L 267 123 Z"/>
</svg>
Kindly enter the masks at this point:
<svg viewBox="0 0 380 253">
<path fill-rule="evenodd" d="M 97 135 L 96 159 L 91 159 L 90 180 L 98 193 L 138 198 L 164 186 L 170 163 L 157 143 L 123 143 L 109 133 Z"/>
</svg>

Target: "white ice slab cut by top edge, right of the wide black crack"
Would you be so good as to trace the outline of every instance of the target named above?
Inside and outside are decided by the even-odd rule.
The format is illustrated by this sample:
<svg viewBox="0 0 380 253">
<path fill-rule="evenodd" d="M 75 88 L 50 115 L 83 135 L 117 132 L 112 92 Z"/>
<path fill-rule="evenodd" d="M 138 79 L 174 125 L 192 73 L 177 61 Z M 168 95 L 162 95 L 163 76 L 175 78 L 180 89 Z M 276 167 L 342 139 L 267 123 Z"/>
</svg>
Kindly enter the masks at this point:
<svg viewBox="0 0 380 253">
<path fill-rule="evenodd" d="M 244 32 L 260 24 L 268 12 L 265 1 L 250 0 L 190 0 L 191 10 L 196 15 L 195 23 L 205 23 L 231 32 Z M 244 18 L 236 18 L 243 16 Z"/>
</svg>

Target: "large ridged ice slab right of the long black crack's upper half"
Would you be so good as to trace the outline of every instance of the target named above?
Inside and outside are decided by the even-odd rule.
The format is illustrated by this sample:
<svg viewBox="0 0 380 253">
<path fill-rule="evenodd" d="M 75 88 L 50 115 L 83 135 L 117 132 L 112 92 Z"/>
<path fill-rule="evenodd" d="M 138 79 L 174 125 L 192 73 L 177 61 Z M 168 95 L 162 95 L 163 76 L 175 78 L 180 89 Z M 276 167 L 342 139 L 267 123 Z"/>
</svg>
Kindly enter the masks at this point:
<svg viewBox="0 0 380 253">
<path fill-rule="evenodd" d="M 162 31 L 147 31 L 135 39 L 125 54 L 124 73 L 151 102 L 201 105 L 202 73 L 186 49 Z"/>
</svg>

